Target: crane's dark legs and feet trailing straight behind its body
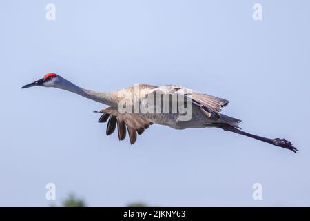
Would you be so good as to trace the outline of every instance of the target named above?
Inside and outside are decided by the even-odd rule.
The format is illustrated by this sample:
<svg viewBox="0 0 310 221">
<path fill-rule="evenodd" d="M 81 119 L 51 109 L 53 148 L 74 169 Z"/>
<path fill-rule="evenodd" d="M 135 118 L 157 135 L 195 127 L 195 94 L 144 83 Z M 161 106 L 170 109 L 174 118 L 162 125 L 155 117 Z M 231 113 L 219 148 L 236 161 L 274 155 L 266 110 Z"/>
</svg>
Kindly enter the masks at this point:
<svg viewBox="0 0 310 221">
<path fill-rule="evenodd" d="M 256 140 L 260 140 L 262 142 L 266 142 L 269 144 L 273 144 L 275 146 L 280 146 L 282 148 L 289 149 L 290 151 L 293 151 L 294 153 L 297 153 L 297 151 L 298 151 L 298 149 L 296 147 L 294 147 L 293 144 L 291 144 L 291 142 L 289 142 L 288 140 L 285 140 L 285 139 L 280 139 L 280 138 L 269 139 L 266 137 L 260 137 L 258 135 L 254 135 L 251 133 L 247 133 L 245 131 L 241 131 L 236 126 L 233 126 L 233 125 L 228 124 L 228 123 L 219 123 L 216 126 L 218 128 L 222 128 L 224 131 L 231 131 L 233 133 L 238 133 L 240 135 L 245 135 L 247 137 L 251 137 L 251 138 L 254 138 Z"/>
</svg>

